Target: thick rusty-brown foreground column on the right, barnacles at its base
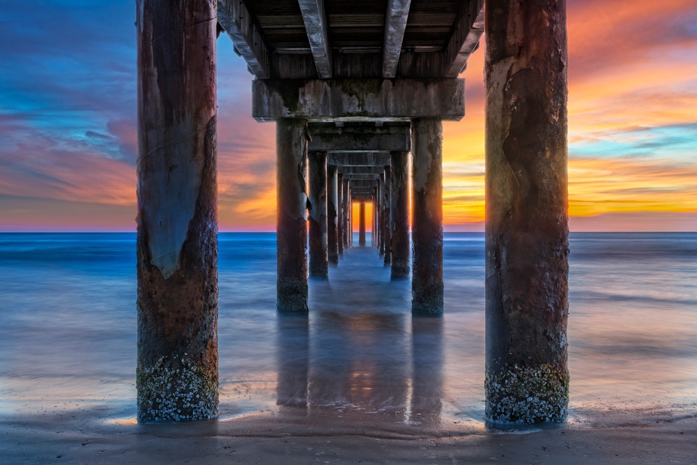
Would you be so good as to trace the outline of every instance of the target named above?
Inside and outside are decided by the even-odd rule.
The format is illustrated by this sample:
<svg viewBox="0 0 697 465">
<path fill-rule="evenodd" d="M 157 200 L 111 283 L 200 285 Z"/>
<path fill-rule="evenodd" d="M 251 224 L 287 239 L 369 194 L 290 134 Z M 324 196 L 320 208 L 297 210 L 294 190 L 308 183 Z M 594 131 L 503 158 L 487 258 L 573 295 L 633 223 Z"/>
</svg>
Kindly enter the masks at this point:
<svg viewBox="0 0 697 465">
<path fill-rule="evenodd" d="M 487 0 L 486 416 L 567 416 L 565 1 Z"/>
</svg>

